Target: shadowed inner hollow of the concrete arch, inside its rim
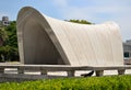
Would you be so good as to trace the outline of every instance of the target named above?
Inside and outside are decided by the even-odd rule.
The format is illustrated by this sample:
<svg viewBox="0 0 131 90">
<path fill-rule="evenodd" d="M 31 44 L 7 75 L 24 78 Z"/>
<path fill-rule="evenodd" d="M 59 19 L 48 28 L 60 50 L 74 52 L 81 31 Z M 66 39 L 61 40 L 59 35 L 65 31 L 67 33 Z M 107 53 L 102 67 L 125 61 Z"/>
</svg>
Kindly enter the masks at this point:
<svg viewBox="0 0 131 90">
<path fill-rule="evenodd" d="M 24 64 L 64 65 L 45 29 L 27 20 L 23 31 Z"/>
</svg>

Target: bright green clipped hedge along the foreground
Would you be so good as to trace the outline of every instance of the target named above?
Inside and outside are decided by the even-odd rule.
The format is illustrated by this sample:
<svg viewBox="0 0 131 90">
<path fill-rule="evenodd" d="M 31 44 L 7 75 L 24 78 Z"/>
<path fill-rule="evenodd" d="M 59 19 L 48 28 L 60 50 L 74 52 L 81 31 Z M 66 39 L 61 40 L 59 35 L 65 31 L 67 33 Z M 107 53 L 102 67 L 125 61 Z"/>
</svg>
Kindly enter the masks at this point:
<svg viewBox="0 0 131 90">
<path fill-rule="evenodd" d="M 131 90 L 131 75 L 7 82 L 0 90 Z"/>
</svg>

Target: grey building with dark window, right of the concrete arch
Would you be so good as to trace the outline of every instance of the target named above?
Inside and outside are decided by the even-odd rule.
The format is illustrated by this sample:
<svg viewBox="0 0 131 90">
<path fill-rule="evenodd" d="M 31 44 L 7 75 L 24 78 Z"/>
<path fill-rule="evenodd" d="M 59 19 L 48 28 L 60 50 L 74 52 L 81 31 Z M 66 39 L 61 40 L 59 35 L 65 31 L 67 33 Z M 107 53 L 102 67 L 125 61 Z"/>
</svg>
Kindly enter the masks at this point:
<svg viewBox="0 0 131 90">
<path fill-rule="evenodd" d="M 131 65 L 131 40 L 123 43 L 124 64 Z"/>
</svg>

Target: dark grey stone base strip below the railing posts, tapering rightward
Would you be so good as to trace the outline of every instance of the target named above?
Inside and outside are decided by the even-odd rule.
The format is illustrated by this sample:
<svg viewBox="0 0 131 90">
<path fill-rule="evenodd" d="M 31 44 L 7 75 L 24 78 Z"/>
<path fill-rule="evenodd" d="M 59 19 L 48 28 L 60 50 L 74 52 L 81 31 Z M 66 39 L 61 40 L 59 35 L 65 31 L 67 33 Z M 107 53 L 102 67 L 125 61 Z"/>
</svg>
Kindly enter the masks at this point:
<svg viewBox="0 0 131 90">
<path fill-rule="evenodd" d="M 21 82 L 38 79 L 63 78 L 64 76 L 0 74 L 0 82 Z"/>
</svg>

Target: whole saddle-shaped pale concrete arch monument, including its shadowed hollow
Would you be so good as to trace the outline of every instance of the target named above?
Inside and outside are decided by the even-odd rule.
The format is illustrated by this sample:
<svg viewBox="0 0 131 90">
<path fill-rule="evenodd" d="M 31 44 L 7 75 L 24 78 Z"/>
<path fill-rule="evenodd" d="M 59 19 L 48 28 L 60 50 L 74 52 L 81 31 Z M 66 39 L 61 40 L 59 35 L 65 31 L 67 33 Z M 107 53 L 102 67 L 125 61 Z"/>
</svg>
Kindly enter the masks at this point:
<svg viewBox="0 0 131 90">
<path fill-rule="evenodd" d="M 20 58 L 24 64 L 123 65 L 119 26 L 76 24 L 25 7 L 16 21 Z"/>
</svg>

